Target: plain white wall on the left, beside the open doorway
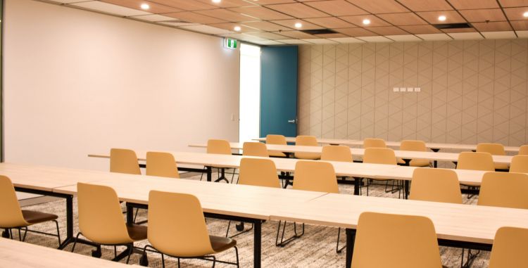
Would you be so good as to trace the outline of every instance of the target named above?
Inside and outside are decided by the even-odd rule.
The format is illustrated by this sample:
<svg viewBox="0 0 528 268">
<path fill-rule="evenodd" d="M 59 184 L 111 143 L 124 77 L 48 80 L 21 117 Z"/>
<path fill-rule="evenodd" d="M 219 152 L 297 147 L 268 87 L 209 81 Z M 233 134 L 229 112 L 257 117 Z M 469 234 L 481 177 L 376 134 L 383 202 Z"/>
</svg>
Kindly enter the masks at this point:
<svg viewBox="0 0 528 268">
<path fill-rule="evenodd" d="M 3 23 L 7 162 L 108 170 L 87 154 L 238 139 L 239 51 L 220 38 L 31 0 Z"/>
</svg>

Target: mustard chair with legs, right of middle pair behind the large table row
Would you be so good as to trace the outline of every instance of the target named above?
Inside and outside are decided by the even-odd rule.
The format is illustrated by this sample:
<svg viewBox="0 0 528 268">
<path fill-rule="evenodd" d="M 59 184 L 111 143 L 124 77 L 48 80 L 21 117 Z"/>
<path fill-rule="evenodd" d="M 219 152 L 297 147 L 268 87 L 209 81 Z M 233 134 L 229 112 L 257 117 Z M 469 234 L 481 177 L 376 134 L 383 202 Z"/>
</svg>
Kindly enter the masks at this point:
<svg viewBox="0 0 528 268">
<path fill-rule="evenodd" d="M 320 161 L 297 161 L 295 164 L 294 186 L 295 190 L 318 191 L 325 193 L 339 193 L 337 177 L 334 166 L 329 162 Z M 282 226 L 282 236 L 279 242 L 279 232 L 282 221 L 279 221 L 275 245 L 284 247 L 294 239 L 303 236 L 304 224 L 302 224 L 301 234 L 297 233 L 297 224 L 294 222 L 294 236 L 284 240 L 284 230 L 287 222 Z"/>
</svg>

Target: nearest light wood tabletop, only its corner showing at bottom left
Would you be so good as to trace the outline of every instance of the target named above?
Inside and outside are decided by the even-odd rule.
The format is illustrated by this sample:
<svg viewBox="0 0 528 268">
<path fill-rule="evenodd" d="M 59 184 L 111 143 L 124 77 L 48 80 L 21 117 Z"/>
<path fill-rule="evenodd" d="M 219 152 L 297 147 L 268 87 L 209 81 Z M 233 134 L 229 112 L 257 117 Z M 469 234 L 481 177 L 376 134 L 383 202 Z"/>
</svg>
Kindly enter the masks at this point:
<svg viewBox="0 0 528 268">
<path fill-rule="evenodd" d="M 126 268 L 139 267 L 70 253 L 42 245 L 0 238 L 0 267 L 19 268 Z"/>
</svg>

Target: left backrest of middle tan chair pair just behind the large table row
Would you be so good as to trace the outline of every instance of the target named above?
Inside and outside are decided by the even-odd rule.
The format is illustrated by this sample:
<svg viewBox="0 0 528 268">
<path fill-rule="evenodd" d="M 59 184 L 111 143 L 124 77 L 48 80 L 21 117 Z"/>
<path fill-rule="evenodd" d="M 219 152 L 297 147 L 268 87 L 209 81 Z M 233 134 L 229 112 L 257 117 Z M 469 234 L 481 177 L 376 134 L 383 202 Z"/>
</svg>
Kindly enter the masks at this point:
<svg viewBox="0 0 528 268">
<path fill-rule="evenodd" d="M 239 184 L 280 188 L 275 162 L 269 159 L 242 158 Z"/>
</svg>

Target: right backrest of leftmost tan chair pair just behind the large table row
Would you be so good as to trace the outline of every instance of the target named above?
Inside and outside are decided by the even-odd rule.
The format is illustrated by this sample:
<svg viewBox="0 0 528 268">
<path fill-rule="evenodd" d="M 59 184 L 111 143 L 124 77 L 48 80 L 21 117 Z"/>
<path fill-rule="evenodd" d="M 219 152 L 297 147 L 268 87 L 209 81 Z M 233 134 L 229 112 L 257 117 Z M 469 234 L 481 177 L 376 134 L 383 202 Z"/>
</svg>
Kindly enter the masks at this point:
<svg viewBox="0 0 528 268">
<path fill-rule="evenodd" d="M 146 152 L 146 174 L 148 176 L 180 178 L 178 166 L 172 153 Z"/>
</svg>

